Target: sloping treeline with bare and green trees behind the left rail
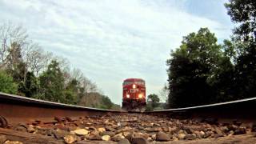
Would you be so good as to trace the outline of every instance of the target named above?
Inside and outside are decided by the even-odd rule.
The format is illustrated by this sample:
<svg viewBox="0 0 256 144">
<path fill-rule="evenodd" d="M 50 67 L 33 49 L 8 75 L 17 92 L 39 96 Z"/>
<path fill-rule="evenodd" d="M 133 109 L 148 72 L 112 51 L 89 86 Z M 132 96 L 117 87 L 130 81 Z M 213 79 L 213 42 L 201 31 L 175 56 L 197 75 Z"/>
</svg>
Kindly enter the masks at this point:
<svg viewBox="0 0 256 144">
<path fill-rule="evenodd" d="M 70 70 L 58 58 L 32 42 L 22 26 L 0 25 L 0 91 L 52 102 L 102 109 L 119 106 L 98 90 L 81 70 Z"/>
</svg>

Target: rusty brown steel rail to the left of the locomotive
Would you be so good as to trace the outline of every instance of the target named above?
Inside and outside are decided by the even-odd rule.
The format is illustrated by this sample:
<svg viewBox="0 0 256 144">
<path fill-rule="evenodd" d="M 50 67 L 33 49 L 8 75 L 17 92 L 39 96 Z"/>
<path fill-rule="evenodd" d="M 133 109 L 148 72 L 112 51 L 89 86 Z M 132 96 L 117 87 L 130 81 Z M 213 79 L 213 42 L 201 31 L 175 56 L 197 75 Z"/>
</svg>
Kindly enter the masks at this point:
<svg viewBox="0 0 256 144">
<path fill-rule="evenodd" d="M 0 93 L 0 127 L 19 122 L 53 122 L 61 118 L 78 119 L 86 115 L 120 114 L 123 111 L 74 106 L 58 102 Z"/>
</svg>

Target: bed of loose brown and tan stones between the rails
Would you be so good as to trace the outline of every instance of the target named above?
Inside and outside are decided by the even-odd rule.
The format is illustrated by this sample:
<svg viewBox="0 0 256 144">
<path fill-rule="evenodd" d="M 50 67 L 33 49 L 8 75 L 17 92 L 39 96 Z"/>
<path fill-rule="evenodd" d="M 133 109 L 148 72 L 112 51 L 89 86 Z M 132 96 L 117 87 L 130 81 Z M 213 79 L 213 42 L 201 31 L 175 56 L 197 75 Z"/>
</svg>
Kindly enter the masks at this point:
<svg viewBox="0 0 256 144">
<path fill-rule="evenodd" d="M 145 114 L 123 114 L 111 117 L 87 116 L 77 121 L 46 125 L 41 123 L 37 126 L 19 124 L 11 129 L 64 139 L 66 143 L 95 141 L 126 144 L 219 138 L 256 131 L 256 125 L 219 123 L 216 119 L 179 120 Z M 0 134 L 0 143 L 5 141 L 6 137 Z"/>
</svg>

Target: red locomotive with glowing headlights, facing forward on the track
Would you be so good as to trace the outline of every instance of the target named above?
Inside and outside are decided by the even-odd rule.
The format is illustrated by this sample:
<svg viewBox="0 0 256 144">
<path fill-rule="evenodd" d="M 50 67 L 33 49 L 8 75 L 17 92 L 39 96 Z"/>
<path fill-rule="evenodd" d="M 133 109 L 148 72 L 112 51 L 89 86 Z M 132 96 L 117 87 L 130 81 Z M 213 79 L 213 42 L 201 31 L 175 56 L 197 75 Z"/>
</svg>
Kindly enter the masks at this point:
<svg viewBox="0 0 256 144">
<path fill-rule="evenodd" d="M 122 83 L 122 109 L 128 111 L 146 110 L 146 87 L 141 78 L 127 78 Z"/>
</svg>

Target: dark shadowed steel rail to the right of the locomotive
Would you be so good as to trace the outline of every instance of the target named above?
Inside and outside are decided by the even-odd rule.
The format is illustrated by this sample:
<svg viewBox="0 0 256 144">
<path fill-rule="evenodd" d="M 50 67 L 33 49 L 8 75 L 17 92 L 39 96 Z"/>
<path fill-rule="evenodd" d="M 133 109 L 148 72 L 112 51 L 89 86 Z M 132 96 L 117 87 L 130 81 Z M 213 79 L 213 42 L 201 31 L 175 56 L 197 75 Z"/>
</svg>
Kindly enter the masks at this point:
<svg viewBox="0 0 256 144">
<path fill-rule="evenodd" d="M 215 119 L 216 121 L 256 122 L 256 97 L 210 105 L 191 106 L 169 110 L 154 110 L 146 114 L 172 118 Z"/>
</svg>

